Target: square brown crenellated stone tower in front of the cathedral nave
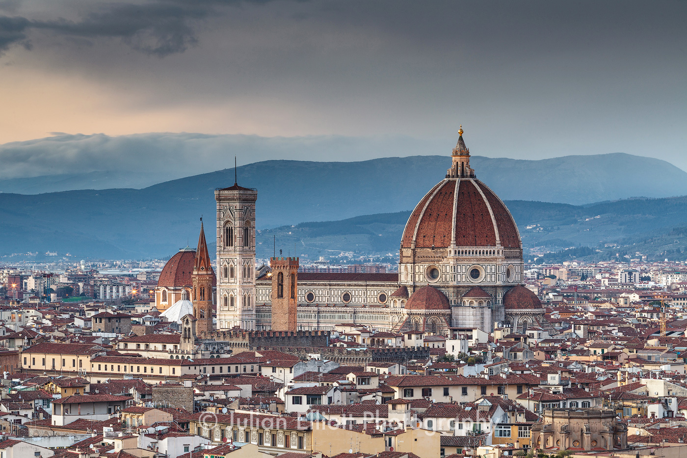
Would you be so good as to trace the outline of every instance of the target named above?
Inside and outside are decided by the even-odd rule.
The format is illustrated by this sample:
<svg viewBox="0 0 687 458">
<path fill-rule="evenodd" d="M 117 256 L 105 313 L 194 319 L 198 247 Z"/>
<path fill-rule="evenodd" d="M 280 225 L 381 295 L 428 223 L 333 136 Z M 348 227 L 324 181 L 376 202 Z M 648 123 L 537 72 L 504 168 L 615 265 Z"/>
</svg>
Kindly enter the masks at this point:
<svg viewBox="0 0 687 458">
<path fill-rule="evenodd" d="M 273 331 L 295 331 L 298 298 L 298 258 L 271 258 Z"/>
</svg>

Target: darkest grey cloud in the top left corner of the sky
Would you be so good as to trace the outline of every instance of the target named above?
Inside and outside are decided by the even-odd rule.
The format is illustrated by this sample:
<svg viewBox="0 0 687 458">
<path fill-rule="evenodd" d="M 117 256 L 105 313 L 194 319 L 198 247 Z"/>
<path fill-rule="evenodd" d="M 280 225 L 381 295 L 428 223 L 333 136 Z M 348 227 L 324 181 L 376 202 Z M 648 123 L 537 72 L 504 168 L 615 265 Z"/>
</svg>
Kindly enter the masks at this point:
<svg viewBox="0 0 687 458">
<path fill-rule="evenodd" d="M 167 0 L 135 3 L 108 3 L 97 5 L 98 11 L 85 14 L 80 21 L 56 19 L 40 21 L 25 17 L 0 16 L 0 51 L 11 45 L 30 47 L 32 29 L 47 30 L 63 36 L 85 39 L 119 38 L 134 50 L 167 56 L 184 52 L 198 41 L 196 22 L 221 7 L 236 5 L 247 0 Z M 256 0 L 250 3 L 266 3 Z"/>
</svg>

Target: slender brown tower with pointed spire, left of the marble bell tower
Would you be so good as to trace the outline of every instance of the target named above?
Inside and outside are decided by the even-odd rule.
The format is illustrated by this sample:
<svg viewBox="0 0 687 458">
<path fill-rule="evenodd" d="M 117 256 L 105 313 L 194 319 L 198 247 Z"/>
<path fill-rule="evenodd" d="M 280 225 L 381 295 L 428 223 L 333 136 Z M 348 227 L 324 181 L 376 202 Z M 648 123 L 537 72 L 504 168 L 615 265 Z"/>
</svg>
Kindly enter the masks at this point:
<svg viewBox="0 0 687 458">
<path fill-rule="evenodd" d="M 201 235 L 198 237 L 198 248 L 196 249 L 196 259 L 193 264 L 191 282 L 193 285 L 193 314 L 198 320 L 196 322 L 196 331 L 208 333 L 213 329 L 212 287 L 216 283 L 216 278 L 212 270 L 212 265 L 210 265 L 210 254 L 207 252 L 202 218 Z"/>
</svg>

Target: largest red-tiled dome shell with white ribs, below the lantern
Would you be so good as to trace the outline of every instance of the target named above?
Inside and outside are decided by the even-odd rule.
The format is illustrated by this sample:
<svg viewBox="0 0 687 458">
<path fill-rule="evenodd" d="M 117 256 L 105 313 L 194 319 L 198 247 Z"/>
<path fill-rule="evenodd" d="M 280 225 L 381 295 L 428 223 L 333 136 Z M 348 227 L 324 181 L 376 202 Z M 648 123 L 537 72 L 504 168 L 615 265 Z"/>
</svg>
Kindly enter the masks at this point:
<svg viewBox="0 0 687 458">
<path fill-rule="evenodd" d="M 455 194 L 458 194 L 456 196 Z M 475 178 L 447 178 L 415 207 L 403 231 L 401 248 L 502 246 L 521 249 L 508 208 Z"/>
</svg>

